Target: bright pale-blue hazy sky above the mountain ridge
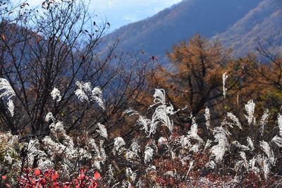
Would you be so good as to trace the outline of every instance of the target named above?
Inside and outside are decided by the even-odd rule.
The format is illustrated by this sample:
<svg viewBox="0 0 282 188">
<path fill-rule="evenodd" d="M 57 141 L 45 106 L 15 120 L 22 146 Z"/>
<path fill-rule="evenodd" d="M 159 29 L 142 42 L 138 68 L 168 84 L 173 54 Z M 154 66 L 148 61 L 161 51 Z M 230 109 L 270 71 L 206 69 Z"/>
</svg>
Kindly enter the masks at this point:
<svg viewBox="0 0 282 188">
<path fill-rule="evenodd" d="M 106 18 L 111 23 L 111 30 L 114 30 L 152 16 L 180 1 L 182 0 L 91 0 L 90 11 L 99 15 L 99 18 Z M 27 3 L 37 6 L 42 0 L 27 0 Z"/>
</svg>

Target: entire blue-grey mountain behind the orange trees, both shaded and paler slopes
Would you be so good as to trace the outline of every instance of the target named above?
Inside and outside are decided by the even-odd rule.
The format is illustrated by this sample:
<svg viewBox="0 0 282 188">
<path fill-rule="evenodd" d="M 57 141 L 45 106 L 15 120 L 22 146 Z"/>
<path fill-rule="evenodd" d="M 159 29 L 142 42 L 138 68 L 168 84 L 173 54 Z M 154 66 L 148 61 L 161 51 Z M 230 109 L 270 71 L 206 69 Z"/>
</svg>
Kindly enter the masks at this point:
<svg viewBox="0 0 282 188">
<path fill-rule="evenodd" d="M 125 25 L 106 35 L 111 44 L 118 38 L 118 50 L 145 51 L 164 61 L 172 46 L 200 33 L 222 40 L 234 54 L 255 49 L 257 37 L 281 46 L 281 0 L 183 0 L 157 15 Z"/>
</svg>

